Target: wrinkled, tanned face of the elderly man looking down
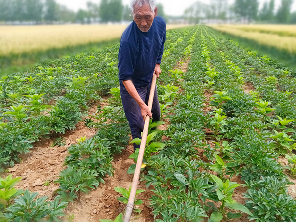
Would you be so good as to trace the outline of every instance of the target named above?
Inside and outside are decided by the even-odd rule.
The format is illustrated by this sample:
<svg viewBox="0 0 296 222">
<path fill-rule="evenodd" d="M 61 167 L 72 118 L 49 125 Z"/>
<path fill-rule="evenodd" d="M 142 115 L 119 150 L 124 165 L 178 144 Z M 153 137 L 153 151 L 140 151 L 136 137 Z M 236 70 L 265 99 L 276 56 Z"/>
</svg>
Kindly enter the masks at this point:
<svg viewBox="0 0 296 222">
<path fill-rule="evenodd" d="M 134 6 L 134 21 L 136 22 L 138 28 L 142 32 L 148 32 L 152 26 L 153 20 L 156 17 L 157 8 L 155 8 L 154 13 L 148 4 L 140 7 L 139 5 Z"/>
</svg>

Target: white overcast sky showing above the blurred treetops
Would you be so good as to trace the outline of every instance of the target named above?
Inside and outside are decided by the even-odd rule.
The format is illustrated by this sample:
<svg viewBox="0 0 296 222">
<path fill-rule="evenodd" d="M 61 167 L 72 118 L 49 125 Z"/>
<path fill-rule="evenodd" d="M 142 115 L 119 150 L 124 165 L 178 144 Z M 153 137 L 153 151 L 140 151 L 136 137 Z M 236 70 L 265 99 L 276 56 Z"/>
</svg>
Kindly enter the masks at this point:
<svg viewBox="0 0 296 222">
<path fill-rule="evenodd" d="M 100 0 L 56 0 L 59 4 L 66 5 L 68 8 L 77 11 L 79 8 L 86 8 L 86 2 L 92 1 L 94 3 L 99 3 Z M 156 0 L 157 3 L 162 3 L 164 6 L 164 12 L 167 15 L 183 15 L 186 8 L 190 7 L 197 0 Z M 204 3 L 208 3 L 210 0 L 199 0 Z M 233 3 L 234 0 L 228 0 L 229 3 Z M 260 4 L 266 0 L 259 0 Z M 279 6 L 281 0 L 275 0 L 277 7 Z M 130 0 L 122 0 L 123 4 L 127 5 Z M 293 11 L 296 10 L 296 1 L 293 4 Z"/>
</svg>

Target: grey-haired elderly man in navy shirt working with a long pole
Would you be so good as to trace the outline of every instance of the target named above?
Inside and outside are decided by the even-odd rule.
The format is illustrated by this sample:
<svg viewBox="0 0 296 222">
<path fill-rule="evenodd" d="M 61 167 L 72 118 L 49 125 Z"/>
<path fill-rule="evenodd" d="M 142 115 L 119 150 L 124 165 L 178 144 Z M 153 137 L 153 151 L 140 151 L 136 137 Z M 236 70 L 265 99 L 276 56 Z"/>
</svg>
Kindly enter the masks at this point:
<svg viewBox="0 0 296 222">
<path fill-rule="evenodd" d="M 147 105 L 153 74 L 161 73 L 166 24 L 156 17 L 155 0 L 132 0 L 131 9 L 134 21 L 122 34 L 118 69 L 122 105 L 134 139 L 141 138 L 147 115 L 160 119 L 156 89 L 151 112 Z"/>
</svg>

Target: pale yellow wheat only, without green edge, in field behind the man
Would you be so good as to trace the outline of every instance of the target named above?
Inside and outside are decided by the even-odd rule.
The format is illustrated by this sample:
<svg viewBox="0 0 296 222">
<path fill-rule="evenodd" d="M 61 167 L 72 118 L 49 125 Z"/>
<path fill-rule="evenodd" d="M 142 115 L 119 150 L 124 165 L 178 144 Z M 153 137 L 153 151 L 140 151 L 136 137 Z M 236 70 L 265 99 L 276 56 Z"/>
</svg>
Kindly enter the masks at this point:
<svg viewBox="0 0 296 222">
<path fill-rule="evenodd" d="M 167 25 L 167 29 L 183 25 Z M 0 26 L 0 56 L 35 53 L 120 38 L 127 25 Z"/>
</svg>

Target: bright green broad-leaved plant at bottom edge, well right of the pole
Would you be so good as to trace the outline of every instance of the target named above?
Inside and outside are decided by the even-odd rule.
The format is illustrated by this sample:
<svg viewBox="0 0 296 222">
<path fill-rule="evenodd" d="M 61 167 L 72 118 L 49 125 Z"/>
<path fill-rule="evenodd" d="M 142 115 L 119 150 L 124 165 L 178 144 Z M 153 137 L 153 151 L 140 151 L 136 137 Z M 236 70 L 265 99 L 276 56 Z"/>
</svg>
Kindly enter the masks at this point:
<svg viewBox="0 0 296 222">
<path fill-rule="evenodd" d="M 229 179 L 227 179 L 226 182 L 223 183 L 223 181 L 219 177 L 212 175 L 212 174 L 210 176 L 217 186 L 217 190 L 216 190 L 217 197 L 218 197 L 219 201 L 221 201 L 221 206 L 219 208 L 217 208 L 214 205 L 214 203 L 207 202 L 207 204 L 210 207 L 212 207 L 214 210 L 210 216 L 210 222 L 220 222 L 225 217 L 225 214 L 226 214 L 225 207 L 227 207 L 229 209 L 233 209 L 233 210 L 242 211 L 242 212 L 247 213 L 251 216 L 253 215 L 248 210 L 248 208 L 246 208 L 242 204 L 237 203 L 236 201 L 234 201 L 232 199 L 234 189 L 236 187 L 240 186 L 240 184 L 235 183 L 235 182 L 231 182 L 231 181 L 229 181 Z M 241 217 L 240 213 L 231 213 L 231 212 L 227 213 L 228 219 L 234 219 L 234 218 L 239 218 L 239 217 Z"/>
</svg>

